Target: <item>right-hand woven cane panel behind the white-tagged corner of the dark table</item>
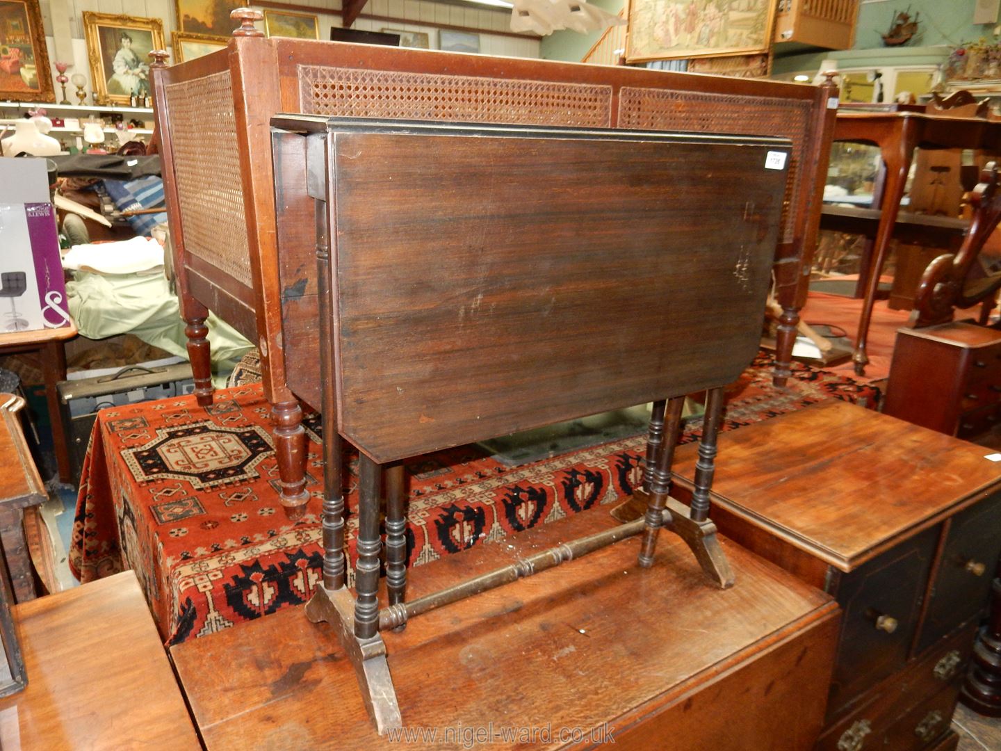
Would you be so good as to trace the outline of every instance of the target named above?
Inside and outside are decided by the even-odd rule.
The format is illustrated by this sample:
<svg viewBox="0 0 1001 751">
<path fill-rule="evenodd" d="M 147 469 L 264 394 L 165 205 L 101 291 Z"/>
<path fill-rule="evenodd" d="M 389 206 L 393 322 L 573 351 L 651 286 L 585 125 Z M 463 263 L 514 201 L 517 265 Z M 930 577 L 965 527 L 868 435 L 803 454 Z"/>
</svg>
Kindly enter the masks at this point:
<svg viewBox="0 0 1001 751">
<path fill-rule="evenodd" d="M 630 86 L 619 92 L 621 128 L 779 135 L 791 139 L 793 151 L 782 205 L 783 242 L 791 242 L 795 233 L 795 217 L 790 207 L 800 189 L 800 165 L 810 134 L 810 110 L 811 102 L 802 99 Z"/>
</svg>

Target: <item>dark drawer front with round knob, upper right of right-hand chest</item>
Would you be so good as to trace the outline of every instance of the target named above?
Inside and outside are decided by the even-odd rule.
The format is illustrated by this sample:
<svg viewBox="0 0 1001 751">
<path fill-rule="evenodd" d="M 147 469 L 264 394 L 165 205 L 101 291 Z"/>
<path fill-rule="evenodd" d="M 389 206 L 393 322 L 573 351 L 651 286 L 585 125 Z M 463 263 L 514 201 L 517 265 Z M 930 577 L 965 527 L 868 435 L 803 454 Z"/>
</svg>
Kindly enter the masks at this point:
<svg viewBox="0 0 1001 751">
<path fill-rule="evenodd" d="M 953 517 L 942 559 L 933 574 L 917 654 L 974 618 L 987 605 L 999 555 L 1001 492 Z"/>
</svg>

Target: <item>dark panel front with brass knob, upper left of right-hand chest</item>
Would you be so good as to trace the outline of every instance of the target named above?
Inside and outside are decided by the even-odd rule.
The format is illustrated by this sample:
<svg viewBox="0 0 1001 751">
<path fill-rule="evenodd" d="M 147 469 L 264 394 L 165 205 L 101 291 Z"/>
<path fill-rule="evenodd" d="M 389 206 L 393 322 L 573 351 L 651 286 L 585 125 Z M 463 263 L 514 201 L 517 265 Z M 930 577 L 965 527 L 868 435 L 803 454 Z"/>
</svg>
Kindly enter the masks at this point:
<svg viewBox="0 0 1001 751">
<path fill-rule="evenodd" d="M 906 664 L 940 532 L 940 525 L 925 530 L 842 577 L 829 718 Z"/>
</svg>

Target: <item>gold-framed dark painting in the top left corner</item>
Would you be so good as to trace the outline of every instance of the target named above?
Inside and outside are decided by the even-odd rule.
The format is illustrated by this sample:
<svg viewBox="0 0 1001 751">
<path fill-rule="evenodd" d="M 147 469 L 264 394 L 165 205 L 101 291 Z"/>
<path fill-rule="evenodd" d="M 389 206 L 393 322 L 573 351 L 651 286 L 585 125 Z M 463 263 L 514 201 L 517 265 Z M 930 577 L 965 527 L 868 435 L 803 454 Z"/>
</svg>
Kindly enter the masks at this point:
<svg viewBox="0 0 1001 751">
<path fill-rule="evenodd" d="M 55 100 L 38 0 L 0 0 L 0 99 Z"/>
</svg>

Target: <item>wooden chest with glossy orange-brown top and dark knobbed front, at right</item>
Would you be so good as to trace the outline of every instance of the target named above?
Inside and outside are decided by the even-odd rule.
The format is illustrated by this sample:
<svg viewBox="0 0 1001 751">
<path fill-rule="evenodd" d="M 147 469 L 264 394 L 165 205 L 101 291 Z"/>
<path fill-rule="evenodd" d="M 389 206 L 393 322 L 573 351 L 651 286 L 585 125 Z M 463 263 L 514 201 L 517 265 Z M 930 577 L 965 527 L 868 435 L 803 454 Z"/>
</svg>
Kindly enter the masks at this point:
<svg viewBox="0 0 1001 751">
<path fill-rule="evenodd" d="M 681 486 L 693 448 L 678 450 Z M 844 403 L 724 434 L 719 449 L 720 531 L 844 609 L 819 748 L 944 742 L 1001 552 L 1001 465 Z"/>
</svg>

